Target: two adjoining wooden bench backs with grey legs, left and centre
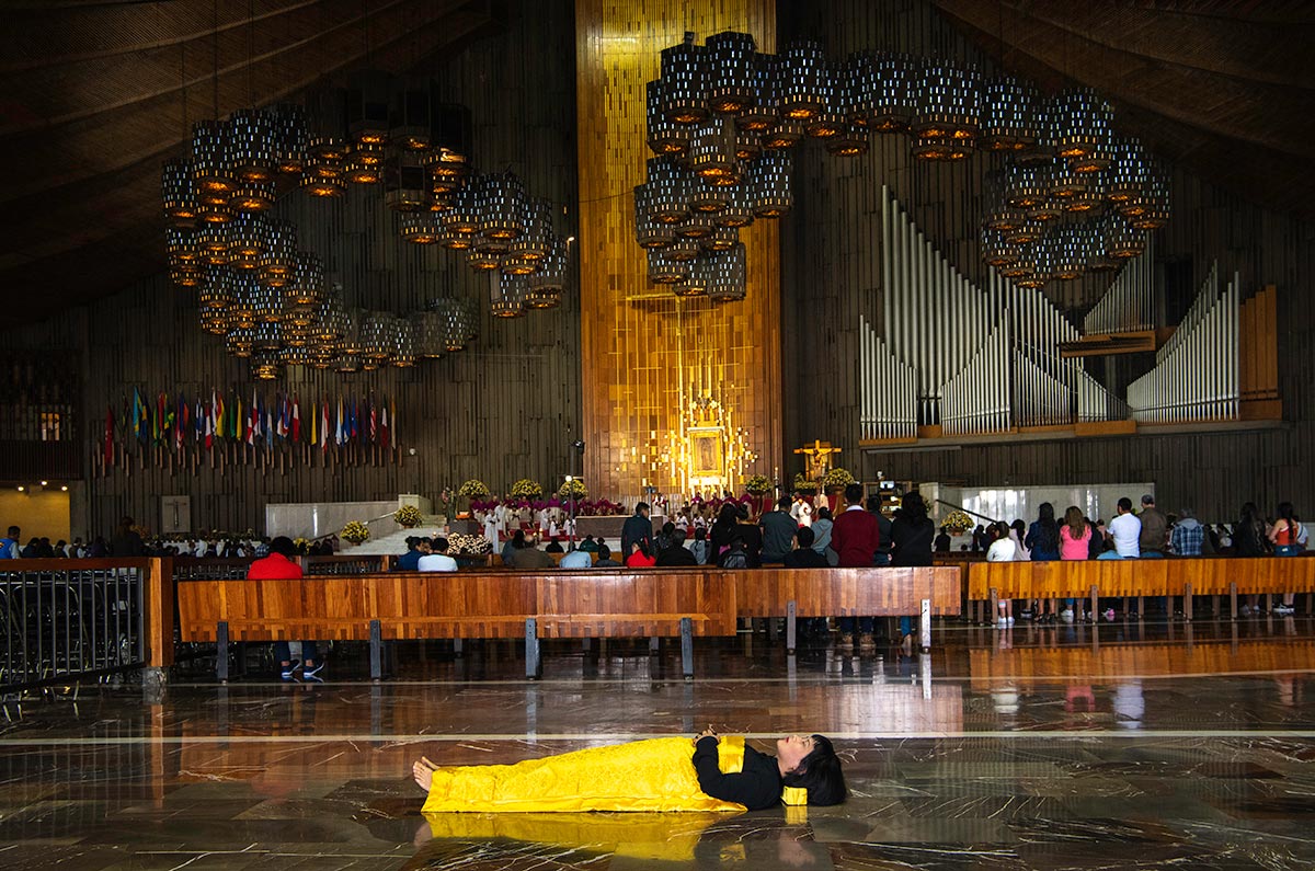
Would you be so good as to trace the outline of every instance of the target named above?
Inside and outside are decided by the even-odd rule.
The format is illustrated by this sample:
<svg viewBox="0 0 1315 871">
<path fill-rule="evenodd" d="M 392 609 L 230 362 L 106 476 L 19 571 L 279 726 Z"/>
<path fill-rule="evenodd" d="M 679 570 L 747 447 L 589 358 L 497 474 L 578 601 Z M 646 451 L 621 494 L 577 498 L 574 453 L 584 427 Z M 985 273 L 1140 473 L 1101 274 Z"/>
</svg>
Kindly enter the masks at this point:
<svg viewBox="0 0 1315 871">
<path fill-rule="evenodd" d="M 693 674 L 696 635 L 732 635 L 736 617 L 959 613 L 955 568 L 551 570 L 388 572 L 302 580 L 196 579 L 178 584 L 179 637 L 217 642 L 221 678 L 230 641 L 368 641 L 371 675 L 384 641 L 526 639 L 526 674 L 540 638 L 680 637 Z"/>
</svg>

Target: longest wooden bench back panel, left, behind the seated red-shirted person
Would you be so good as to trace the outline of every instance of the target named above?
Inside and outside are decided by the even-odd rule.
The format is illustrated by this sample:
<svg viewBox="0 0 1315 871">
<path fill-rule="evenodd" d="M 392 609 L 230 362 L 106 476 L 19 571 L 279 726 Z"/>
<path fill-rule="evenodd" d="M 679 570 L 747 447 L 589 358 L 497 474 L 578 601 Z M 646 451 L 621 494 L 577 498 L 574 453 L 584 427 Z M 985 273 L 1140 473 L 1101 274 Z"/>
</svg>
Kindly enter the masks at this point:
<svg viewBox="0 0 1315 871">
<path fill-rule="evenodd" d="M 391 572 L 302 580 L 189 580 L 179 584 L 183 641 L 370 641 L 519 638 L 534 618 L 539 637 L 735 634 L 729 572 Z"/>
</svg>

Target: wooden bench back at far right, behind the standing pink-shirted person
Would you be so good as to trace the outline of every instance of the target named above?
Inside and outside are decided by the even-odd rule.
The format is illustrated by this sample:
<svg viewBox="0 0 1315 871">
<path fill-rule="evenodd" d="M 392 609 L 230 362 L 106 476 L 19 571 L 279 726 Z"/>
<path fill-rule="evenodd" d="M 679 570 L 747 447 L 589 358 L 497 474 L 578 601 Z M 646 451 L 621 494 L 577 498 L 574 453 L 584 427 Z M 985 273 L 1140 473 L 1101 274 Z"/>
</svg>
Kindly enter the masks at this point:
<svg viewBox="0 0 1315 871">
<path fill-rule="evenodd" d="M 1315 559 L 1299 557 L 1199 557 L 1168 559 L 1085 559 L 1066 562 L 973 563 L 969 599 L 1057 599 L 1086 596 L 1195 596 L 1315 591 Z"/>
</svg>

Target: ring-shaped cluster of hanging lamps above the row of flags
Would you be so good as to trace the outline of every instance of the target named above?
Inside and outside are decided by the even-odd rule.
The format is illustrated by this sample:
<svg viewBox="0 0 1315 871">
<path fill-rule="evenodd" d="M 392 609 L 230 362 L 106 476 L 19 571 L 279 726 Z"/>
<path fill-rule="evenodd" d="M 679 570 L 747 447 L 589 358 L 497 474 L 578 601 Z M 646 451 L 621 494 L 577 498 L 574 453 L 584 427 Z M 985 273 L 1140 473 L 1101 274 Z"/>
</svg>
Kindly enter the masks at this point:
<svg viewBox="0 0 1315 871">
<path fill-rule="evenodd" d="M 468 249 L 475 268 L 498 270 L 496 314 L 558 305 L 567 245 L 550 203 L 526 196 L 510 172 L 472 174 L 469 132 L 469 111 L 439 101 L 433 83 L 397 86 L 379 72 L 306 107 L 200 121 L 189 155 L 163 168 L 170 276 L 197 291 L 203 329 L 250 358 L 260 379 L 287 364 L 356 372 L 463 350 L 476 336 L 472 303 L 348 308 L 320 258 L 297 247 L 296 226 L 268 214 L 280 192 L 334 199 L 350 183 L 383 186 L 402 238 Z"/>
</svg>

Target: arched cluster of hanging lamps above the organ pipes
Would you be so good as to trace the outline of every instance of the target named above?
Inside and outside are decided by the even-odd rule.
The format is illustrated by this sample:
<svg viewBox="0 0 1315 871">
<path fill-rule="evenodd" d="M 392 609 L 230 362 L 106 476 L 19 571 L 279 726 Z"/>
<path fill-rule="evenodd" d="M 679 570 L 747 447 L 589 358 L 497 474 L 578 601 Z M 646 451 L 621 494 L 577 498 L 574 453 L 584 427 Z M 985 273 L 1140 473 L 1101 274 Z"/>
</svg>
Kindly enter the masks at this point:
<svg viewBox="0 0 1315 871">
<path fill-rule="evenodd" d="M 744 33 L 704 46 L 686 33 L 663 50 L 646 96 L 659 157 L 635 188 L 635 237 L 650 280 L 680 295 L 704 292 L 698 264 L 734 257 L 738 228 L 789 211 L 790 150 L 806 139 L 838 157 L 865 154 L 874 133 L 906 134 L 922 161 L 1002 154 L 988 178 L 984 259 L 1027 287 L 1115 270 L 1169 217 L 1164 174 L 1112 133 L 1111 108 L 1089 89 L 1041 99 L 944 59 L 828 62 L 814 42 L 769 55 Z"/>
</svg>

